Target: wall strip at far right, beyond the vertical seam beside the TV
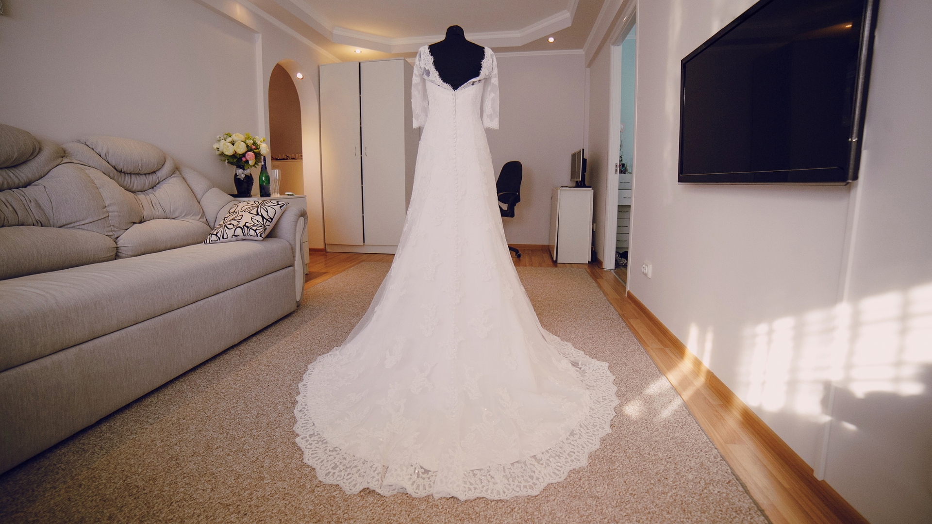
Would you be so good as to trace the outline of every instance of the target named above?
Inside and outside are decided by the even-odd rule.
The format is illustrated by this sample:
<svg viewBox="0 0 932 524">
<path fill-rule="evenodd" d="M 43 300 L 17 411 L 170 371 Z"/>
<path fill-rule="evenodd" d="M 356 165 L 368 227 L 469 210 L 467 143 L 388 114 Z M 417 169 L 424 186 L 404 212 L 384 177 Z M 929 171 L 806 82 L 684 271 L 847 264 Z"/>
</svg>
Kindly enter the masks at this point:
<svg viewBox="0 0 932 524">
<path fill-rule="evenodd" d="M 932 2 L 882 0 L 826 480 L 871 522 L 932 522 Z"/>
</svg>

